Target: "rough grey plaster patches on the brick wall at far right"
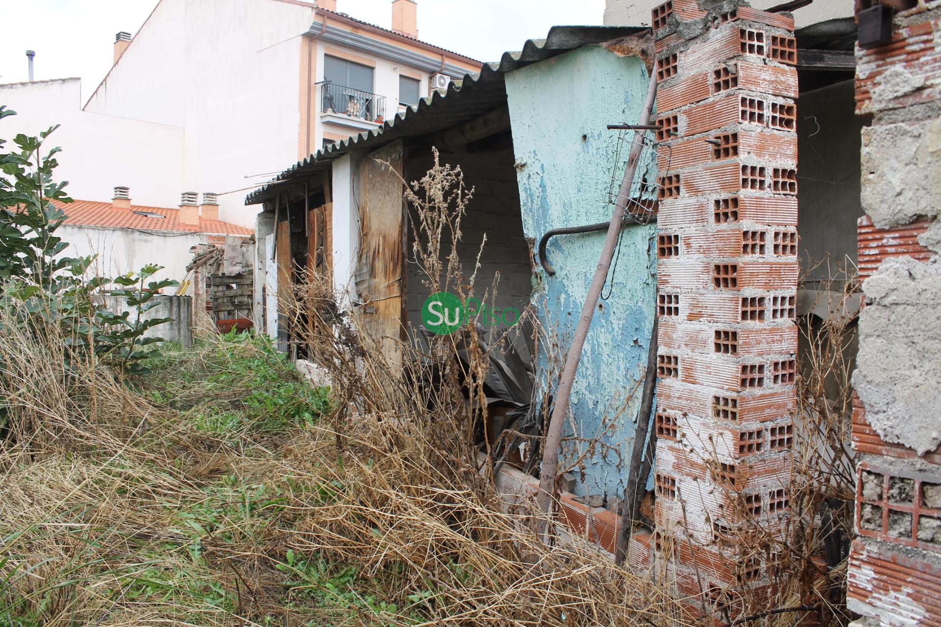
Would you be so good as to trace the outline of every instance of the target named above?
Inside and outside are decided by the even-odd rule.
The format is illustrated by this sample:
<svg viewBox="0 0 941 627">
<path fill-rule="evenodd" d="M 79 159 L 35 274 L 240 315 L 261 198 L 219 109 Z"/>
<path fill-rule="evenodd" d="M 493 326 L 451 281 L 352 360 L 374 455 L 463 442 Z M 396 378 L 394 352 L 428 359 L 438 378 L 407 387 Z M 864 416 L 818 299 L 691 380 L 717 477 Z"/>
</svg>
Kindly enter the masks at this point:
<svg viewBox="0 0 941 627">
<path fill-rule="evenodd" d="M 933 11 L 941 16 L 941 9 Z M 866 109 L 876 114 L 862 132 L 863 210 L 875 227 L 907 225 L 941 214 L 941 119 L 924 106 L 900 107 L 931 88 L 918 64 L 896 64 L 871 87 Z M 941 80 L 933 79 L 934 89 Z M 941 251 L 941 224 L 918 242 Z M 887 442 L 919 454 L 941 444 L 941 263 L 887 259 L 863 283 L 867 306 L 859 321 L 859 362 L 853 385 L 869 424 Z M 925 363 L 922 363 L 924 360 Z"/>
</svg>

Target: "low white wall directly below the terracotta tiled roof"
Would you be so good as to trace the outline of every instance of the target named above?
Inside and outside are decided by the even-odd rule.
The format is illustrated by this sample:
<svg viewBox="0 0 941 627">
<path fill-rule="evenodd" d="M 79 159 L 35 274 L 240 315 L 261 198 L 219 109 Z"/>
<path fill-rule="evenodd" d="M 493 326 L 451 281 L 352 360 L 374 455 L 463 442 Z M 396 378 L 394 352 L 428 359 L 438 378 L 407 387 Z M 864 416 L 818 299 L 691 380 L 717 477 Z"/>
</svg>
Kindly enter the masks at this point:
<svg viewBox="0 0 941 627">
<path fill-rule="evenodd" d="M 62 225 L 56 234 L 71 245 L 62 254 L 66 257 L 98 255 L 91 267 L 95 274 L 117 276 L 136 272 L 148 263 L 165 269 L 151 280 L 172 278 L 183 281 L 186 265 L 193 260 L 189 252 L 201 241 L 199 233 L 157 235 L 133 228 L 94 228 Z M 173 290 L 170 290 L 172 293 Z M 187 291 L 192 293 L 192 290 Z"/>
</svg>

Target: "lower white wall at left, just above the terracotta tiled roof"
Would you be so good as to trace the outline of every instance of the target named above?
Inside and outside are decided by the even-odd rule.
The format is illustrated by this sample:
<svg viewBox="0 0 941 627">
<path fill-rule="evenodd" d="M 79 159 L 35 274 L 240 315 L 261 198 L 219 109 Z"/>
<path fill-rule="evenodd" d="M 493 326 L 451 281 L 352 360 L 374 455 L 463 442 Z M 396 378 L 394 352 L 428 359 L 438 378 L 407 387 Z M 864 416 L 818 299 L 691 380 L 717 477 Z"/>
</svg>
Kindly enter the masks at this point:
<svg viewBox="0 0 941 627">
<path fill-rule="evenodd" d="M 73 198 L 110 201 L 114 187 L 125 185 L 135 204 L 180 203 L 182 128 L 82 111 L 77 78 L 0 85 L 0 104 L 17 112 L 0 121 L 8 149 L 17 133 L 39 135 L 61 125 L 45 146 L 62 148 L 55 180 L 68 180 Z"/>
</svg>

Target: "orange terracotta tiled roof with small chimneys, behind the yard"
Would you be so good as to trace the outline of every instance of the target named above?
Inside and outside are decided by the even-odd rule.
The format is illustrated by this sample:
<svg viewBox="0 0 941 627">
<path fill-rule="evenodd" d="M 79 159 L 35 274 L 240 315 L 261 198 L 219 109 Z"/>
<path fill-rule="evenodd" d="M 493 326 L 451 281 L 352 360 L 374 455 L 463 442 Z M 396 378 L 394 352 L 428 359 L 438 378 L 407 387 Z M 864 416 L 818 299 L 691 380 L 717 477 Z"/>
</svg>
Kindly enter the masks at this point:
<svg viewBox="0 0 941 627">
<path fill-rule="evenodd" d="M 131 209 L 116 209 L 110 202 L 96 202 L 94 200 L 76 200 L 70 203 L 56 203 L 69 217 L 67 225 L 76 227 L 103 227 L 103 228 L 140 228 L 149 231 L 169 231 L 174 233 L 215 233 L 219 235 L 251 235 L 255 231 L 251 228 L 239 227 L 231 222 L 219 220 L 203 220 L 199 218 L 199 226 L 180 224 L 180 210 L 166 207 L 145 207 L 131 205 Z M 158 218 L 144 215 L 141 212 L 157 213 L 166 217 Z"/>
</svg>

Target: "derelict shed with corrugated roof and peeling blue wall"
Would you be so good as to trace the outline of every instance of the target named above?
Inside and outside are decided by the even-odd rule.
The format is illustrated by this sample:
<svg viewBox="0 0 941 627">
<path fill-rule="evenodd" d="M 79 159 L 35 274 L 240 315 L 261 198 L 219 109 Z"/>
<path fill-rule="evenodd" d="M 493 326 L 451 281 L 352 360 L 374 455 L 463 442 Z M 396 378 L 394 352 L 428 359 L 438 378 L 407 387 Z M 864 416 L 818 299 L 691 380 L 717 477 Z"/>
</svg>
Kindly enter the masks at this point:
<svg viewBox="0 0 941 627">
<path fill-rule="evenodd" d="M 475 292 L 499 274 L 494 306 L 522 310 L 533 303 L 549 341 L 532 354 L 533 347 L 518 338 L 517 349 L 532 363 L 537 387 L 550 390 L 559 347 L 578 320 L 573 312 L 581 306 L 604 232 L 552 237 L 546 257 L 554 274 L 534 262 L 534 247 L 553 229 L 610 218 L 612 179 L 623 173 L 628 151 L 607 126 L 640 116 L 652 61 L 650 40 L 633 37 L 643 33 L 645 28 L 553 28 L 547 39 L 527 41 L 521 52 L 465 77 L 445 97 L 423 99 L 381 129 L 311 155 L 247 202 L 264 203 L 262 220 L 277 216 L 278 227 L 271 228 L 279 251 L 290 237 L 294 255 L 279 259 L 326 269 L 375 337 L 406 339 L 418 332 L 428 288 L 414 260 L 421 235 L 402 202 L 399 175 L 421 178 L 435 147 L 440 163 L 460 166 L 474 188 L 459 254 L 471 271 L 486 234 Z M 655 180 L 655 168 L 648 149 L 641 169 L 646 180 Z M 656 192 L 650 187 L 645 194 L 652 202 Z M 259 228 L 261 239 L 261 222 Z M 624 489 L 640 396 L 635 391 L 655 314 L 653 233 L 649 226 L 622 233 L 571 404 L 575 427 L 566 457 L 583 460 L 573 489 L 601 495 L 612 507 Z M 297 279 L 278 265 L 279 279 Z M 601 444 L 588 450 L 589 441 Z"/>
</svg>

